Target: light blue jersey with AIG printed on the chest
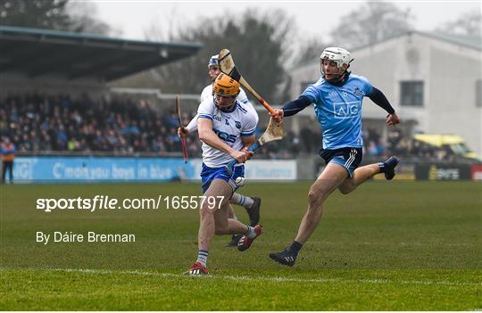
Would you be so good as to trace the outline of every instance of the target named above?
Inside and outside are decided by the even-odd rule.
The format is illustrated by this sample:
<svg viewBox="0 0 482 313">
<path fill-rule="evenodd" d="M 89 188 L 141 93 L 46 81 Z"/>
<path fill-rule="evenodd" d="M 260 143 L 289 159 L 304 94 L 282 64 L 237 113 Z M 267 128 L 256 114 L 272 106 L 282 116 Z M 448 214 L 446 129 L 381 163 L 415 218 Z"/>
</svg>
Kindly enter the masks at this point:
<svg viewBox="0 0 482 313">
<path fill-rule="evenodd" d="M 370 95 L 367 78 L 350 74 L 345 85 L 334 86 L 323 77 L 304 90 L 314 103 L 321 124 L 323 149 L 362 148 L 362 100 Z"/>
</svg>

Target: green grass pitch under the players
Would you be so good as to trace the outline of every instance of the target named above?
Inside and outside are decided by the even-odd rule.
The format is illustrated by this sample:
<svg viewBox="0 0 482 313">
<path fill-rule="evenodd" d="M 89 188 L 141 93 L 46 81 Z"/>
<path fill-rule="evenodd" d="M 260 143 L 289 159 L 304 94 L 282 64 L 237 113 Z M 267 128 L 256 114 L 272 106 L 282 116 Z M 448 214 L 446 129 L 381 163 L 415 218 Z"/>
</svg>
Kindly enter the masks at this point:
<svg viewBox="0 0 482 313">
<path fill-rule="evenodd" d="M 195 260 L 197 210 L 36 210 L 37 198 L 198 195 L 199 185 L 2 185 L 0 310 L 482 309 L 481 184 L 370 182 L 332 194 L 295 267 L 279 266 L 268 253 L 295 237 L 310 185 L 246 185 L 262 196 L 265 234 L 243 253 L 217 236 L 208 277 L 180 275 Z M 44 245 L 37 231 L 136 242 Z"/>
</svg>

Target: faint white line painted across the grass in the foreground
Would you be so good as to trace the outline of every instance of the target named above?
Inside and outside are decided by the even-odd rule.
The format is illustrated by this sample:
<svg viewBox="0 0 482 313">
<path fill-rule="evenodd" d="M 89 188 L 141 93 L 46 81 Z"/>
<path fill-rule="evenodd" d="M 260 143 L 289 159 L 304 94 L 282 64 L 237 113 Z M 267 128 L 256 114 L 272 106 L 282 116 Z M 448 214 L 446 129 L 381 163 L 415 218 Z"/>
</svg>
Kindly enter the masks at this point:
<svg viewBox="0 0 482 313">
<path fill-rule="evenodd" d="M 0 268 L 5 269 L 19 269 L 19 268 Z M 138 276 L 159 276 L 159 277 L 175 277 L 175 278 L 193 278 L 193 276 L 185 276 L 182 274 L 174 273 L 156 273 L 156 272 L 145 272 L 137 270 L 108 270 L 108 269 L 89 269 L 89 268 L 22 268 L 22 269 L 33 269 L 33 270 L 51 270 L 51 271 L 62 271 L 62 272 L 79 272 L 79 273 L 89 273 L 89 274 L 121 274 L 121 275 L 138 275 Z M 290 278 L 290 277 L 279 277 L 279 276 L 199 276 L 200 278 L 208 279 L 225 279 L 225 280 L 236 280 L 236 281 L 268 281 L 268 282 L 295 282 L 295 283 L 367 283 L 367 284 L 441 284 L 441 285 L 455 285 L 455 286 L 482 286 L 482 283 L 453 283 L 453 282 L 437 282 L 431 280 L 412 280 L 412 281 L 396 281 L 389 279 L 344 279 L 344 278 Z M 197 276 L 195 276 L 197 278 Z"/>
</svg>

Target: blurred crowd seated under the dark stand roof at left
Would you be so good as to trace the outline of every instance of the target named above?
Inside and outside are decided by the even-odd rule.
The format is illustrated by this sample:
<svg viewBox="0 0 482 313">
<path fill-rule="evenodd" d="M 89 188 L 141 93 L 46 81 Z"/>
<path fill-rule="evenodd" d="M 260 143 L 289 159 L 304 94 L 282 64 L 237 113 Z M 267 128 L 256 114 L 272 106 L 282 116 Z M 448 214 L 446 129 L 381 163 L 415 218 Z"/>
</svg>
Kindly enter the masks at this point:
<svg viewBox="0 0 482 313">
<path fill-rule="evenodd" d="M 185 114 L 184 121 L 192 116 Z M 19 152 L 180 151 L 177 116 L 145 101 L 92 100 L 87 95 L 9 95 L 0 100 L 0 133 Z M 199 144 L 188 139 L 193 155 Z"/>
</svg>

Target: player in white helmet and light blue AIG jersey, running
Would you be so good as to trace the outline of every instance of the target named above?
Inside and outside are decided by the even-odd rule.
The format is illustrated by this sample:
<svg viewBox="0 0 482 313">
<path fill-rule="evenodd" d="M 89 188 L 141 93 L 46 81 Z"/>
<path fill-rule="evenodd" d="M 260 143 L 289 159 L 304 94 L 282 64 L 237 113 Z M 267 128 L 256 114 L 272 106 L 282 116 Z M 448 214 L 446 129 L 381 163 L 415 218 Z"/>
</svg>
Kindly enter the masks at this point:
<svg viewBox="0 0 482 313">
<path fill-rule="evenodd" d="M 369 97 L 385 109 L 386 125 L 400 122 L 386 96 L 371 86 L 367 78 L 357 76 L 347 69 L 350 67 L 350 53 L 344 48 L 328 47 L 320 55 L 321 77 L 308 86 L 303 94 L 276 110 L 273 119 L 295 115 L 311 103 L 320 122 L 323 148 L 320 156 L 327 166 L 313 183 L 308 194 L 308 209 L 304 214 L 295 241 L 284 251 L 270 253 L 270 258 L 291 267 L 298 252 L 320 222 L 323 202 L 338 189 L 349 194 L 364 181 L 384 173 L 387 180 L 395 177 L 398 160 L 391 157 L 386 161 L 358 167 L 362 161 L 362 100 Z"/>
</svg>

